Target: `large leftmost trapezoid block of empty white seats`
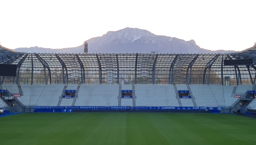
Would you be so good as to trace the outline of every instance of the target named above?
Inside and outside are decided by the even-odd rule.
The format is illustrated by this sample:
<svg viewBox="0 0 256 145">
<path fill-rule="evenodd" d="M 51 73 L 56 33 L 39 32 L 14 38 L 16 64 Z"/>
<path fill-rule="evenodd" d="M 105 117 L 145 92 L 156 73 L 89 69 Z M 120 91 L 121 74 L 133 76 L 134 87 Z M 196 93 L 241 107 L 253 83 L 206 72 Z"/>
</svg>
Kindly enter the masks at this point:
<svg viewBox="0 0 256 145">
<path fill-rule="evenodd" d="M 25 106 L 57 106 L 64 84 L 21 84 L 23 96 L 17 98 Z"/>
</svg>

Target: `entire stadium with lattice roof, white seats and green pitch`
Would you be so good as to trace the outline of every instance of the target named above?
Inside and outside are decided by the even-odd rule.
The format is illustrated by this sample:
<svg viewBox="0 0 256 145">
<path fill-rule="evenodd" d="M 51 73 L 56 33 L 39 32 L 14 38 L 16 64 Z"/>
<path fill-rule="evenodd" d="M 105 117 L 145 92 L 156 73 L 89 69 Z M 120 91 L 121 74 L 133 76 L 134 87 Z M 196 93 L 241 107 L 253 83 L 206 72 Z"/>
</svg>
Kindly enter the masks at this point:
<svg viewBox="0 0 256 145">
<path fill-rule="evenodd" d="M 0 46 L 0 58 L 6 144 L 256 142 L 256 46 L 215 54 Z"/>
</svg>

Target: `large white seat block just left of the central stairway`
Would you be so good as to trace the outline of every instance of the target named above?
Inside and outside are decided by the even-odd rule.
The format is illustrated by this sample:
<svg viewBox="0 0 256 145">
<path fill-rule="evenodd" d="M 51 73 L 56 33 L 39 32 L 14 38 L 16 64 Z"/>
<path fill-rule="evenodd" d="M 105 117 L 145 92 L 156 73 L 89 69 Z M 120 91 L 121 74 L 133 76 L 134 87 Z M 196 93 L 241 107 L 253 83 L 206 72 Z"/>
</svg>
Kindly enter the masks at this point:
<svg viewBox="0 0 256 145">
<path fill-rule="evenodd" d="M 81 84 L 75 106 L 117 106 L 119 84 Z"/>
</svg>

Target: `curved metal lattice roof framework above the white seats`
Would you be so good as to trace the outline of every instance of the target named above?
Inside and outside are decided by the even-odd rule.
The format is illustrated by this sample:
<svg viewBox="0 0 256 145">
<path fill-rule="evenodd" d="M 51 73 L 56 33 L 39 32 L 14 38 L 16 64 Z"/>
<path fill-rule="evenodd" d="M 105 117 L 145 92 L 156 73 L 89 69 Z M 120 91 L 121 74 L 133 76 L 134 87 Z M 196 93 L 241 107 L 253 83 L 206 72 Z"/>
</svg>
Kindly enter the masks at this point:
<svg viewBox="0 0 256 145">
<path fill-rule="evenodd" d="M 252 58 L 252 65 L 224 60 Z M 16 64 L 17 84 L 255 84 L 256 46 L 235 53 L 23 53 L 0 46 L 0 63 Z"/>
</svg>

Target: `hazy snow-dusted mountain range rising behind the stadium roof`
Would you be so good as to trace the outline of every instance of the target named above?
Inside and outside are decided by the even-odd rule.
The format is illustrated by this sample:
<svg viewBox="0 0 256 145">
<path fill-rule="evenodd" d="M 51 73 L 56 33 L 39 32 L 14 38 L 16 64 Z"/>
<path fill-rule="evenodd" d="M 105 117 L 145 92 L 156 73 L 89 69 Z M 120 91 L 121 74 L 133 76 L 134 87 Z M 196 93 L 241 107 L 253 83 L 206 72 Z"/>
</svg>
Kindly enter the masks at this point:
<svg viewBox="0 0 256 145">
<path fill-rule="evenodd" d="M 159 52 L 159 53 L 227 53 L 236 52 L 232 50 L 211 51 L 200 48 L 194 40 L 184 41 L 169 36 L 154 35 L 153 33 L 138 29 L 125 28 L 118 31 L 109 31 L 101 37 L 87 40 L 88 52 Z M 84 45 L 63 48 L 49 49 L 41 47 L 17 48 L 18 52 L 32 53 L 83 53 Z"/>
</svg>

